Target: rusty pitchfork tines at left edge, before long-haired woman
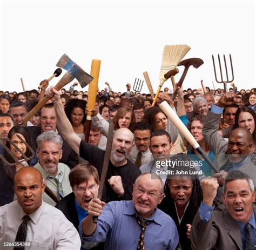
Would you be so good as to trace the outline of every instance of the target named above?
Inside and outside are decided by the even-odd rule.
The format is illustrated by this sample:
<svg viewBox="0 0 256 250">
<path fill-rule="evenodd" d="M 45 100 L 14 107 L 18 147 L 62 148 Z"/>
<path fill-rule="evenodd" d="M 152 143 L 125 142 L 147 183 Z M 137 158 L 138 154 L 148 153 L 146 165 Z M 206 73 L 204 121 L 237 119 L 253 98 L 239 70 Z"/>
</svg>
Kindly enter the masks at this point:
<svg viewBox="0 0 256 250">
<path fill-rule="evenodd" d="M 5 151 L 10 154 L 10 156 L 12 157 L 12 159 L 15 160 L 15 163 L 9 163 L 9 161 L 7 161 L 2 154 L 0 154 L 0 158 L 4 161 L 5 164 L 9 165 L 9 166 L 14 166 L 17 163 L 23 163 L 24 161 L 29 161 L 31 159 L 33 159 L 35 157 L 35 152 L 32 150 L 32 148 L 29 146 L 28 143 L 26 143 L 26 141 L 24 141 L 18 134 L 17 137 L 26 145 L 26 148 L 28 148 L 28 150 L 32 153 L 32 156 L 30 157 L 26 157 L 26 155 L 15 145 L 15 143 L 13 141 L 11 141 L 9 138 L 2 138 L 0 139 L 0 145 L 3 146 L 3 148 L 5 149 Z M 19 160 L 14 153 L 11 152 L 11 150 L 5 145 L 4 141 L 8 141 L 12 146 L 15 147 L 15 149 L 22 154 L 23 159 Z"/>
</svg>

